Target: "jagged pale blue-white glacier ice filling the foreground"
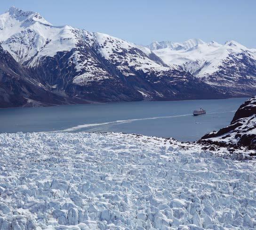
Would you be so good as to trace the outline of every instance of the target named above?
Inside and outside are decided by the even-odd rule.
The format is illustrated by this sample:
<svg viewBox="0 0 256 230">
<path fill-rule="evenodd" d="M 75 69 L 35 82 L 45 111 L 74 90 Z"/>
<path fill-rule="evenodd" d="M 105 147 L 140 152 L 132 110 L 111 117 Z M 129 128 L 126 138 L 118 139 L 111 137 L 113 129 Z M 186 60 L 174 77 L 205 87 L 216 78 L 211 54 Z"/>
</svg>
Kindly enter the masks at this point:
<svg viewBox="0 0 256 230">
<path fill-rule="evenodd" d="M 218 153 L 120 133 L 0 134 L 0 229 L 253 229 L 255 160 Z"/>
</svg>

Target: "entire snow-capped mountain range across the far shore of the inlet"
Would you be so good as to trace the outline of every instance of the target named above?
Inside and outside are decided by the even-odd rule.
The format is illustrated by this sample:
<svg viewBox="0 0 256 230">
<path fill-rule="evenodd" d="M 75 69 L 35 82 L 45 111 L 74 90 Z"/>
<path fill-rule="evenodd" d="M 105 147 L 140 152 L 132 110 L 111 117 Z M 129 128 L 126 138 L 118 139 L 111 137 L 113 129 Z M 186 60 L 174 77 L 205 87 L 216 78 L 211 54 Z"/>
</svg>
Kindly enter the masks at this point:
<svg viewBox="0 0 256 230">
<path fill-rule="evenodd" d="M 139 46 L 12 7 L 0 15 L 0 46 L 0 107 L 256 93 L 256 50 L 233 41 Z"/>
</svg>

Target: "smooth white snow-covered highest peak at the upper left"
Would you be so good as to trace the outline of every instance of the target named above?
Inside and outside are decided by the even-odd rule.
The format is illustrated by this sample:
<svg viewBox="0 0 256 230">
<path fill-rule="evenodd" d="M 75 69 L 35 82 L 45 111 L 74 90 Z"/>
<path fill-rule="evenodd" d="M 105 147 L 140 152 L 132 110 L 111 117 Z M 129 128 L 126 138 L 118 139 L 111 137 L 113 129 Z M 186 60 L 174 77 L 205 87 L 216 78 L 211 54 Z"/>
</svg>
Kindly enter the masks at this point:
<svg viewBox="0 0 256 230">
<path fill-rule="evenodd" d="M 29 66 L 40 57 L 69 51 L 77 42 L 71 26 L 52 26 L 38 13 L 18 8 L 0 15 L 0 30 L 2 47 L 21 64 L 32 61 Z"/>
</svg>

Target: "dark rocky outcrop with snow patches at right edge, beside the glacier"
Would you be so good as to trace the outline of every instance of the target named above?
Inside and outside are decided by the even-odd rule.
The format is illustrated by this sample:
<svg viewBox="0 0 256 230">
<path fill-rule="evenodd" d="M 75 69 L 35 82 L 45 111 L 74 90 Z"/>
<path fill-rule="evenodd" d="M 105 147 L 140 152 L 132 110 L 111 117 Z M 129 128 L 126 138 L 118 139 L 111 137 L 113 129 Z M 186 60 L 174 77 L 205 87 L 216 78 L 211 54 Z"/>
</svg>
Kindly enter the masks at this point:
<svg viewBox="0 0 256 230">
<path fill-rule="evenodd" d="M 256 96 L 239 107 L 229 126 L 206 134 L 200 141 L 256 150 Z"/>
</svg>

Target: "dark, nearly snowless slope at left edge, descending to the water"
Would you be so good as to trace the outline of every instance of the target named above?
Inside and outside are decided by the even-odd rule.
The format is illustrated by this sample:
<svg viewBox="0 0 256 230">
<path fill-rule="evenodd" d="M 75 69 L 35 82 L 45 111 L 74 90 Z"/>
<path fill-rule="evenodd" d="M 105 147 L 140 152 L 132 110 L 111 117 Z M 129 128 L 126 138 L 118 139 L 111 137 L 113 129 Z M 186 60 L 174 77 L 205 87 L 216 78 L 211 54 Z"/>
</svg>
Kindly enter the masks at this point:
<svg viewBox="0 0 256 230">
<path fill-rule="evenodd" d="M 65 104 L 64 98 L 49 92 L 0 46 L 0 107 Z"/>
</svg>

